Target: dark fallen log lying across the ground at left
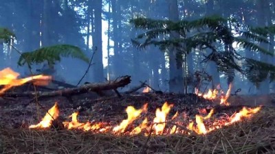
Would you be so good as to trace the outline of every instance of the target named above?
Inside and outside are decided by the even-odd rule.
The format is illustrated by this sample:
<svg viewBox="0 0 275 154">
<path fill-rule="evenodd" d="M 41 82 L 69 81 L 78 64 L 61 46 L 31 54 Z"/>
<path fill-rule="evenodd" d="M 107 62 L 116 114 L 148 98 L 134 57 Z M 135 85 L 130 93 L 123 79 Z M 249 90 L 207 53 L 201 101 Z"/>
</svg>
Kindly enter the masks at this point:
<svg viewBox="0 0 275 154">
<path fill-rule="evenodd" d="M 2 97 L 72 97 L 76 94 L 84 94 L 87 92 L 101 92 L 103 90 L 113 90 L 122 88 L 131 83 L 129 75 L 118 77 L 113 81 L 106 81 L 104 83 L 85 84 L 76 88 L 64 88 L 61 90 L 54 90 L 50 92 L 6 92 Z"/>
</svg>

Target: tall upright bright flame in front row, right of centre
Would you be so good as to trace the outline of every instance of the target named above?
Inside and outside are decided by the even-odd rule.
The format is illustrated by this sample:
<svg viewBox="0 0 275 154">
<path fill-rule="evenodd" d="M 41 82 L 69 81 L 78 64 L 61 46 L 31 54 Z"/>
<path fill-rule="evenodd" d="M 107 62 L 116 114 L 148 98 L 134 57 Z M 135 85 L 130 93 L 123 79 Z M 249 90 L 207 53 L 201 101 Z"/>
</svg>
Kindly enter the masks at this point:
<svg viewBox="0 0 275 154">
<path fill-rule="evenodd" d="M 155 111 L 155 118 L 153 120 L 155 125 L 153 125 L 153 128 L 155 129 L 156 134 L 160 134 L 164 131 L 166 116 L 172 107 L 173 104 L 168 105 L 168 103 L 165 102 L 164 105 L 162 105 L 162 110 L 157 108 Z"/>
</svg>

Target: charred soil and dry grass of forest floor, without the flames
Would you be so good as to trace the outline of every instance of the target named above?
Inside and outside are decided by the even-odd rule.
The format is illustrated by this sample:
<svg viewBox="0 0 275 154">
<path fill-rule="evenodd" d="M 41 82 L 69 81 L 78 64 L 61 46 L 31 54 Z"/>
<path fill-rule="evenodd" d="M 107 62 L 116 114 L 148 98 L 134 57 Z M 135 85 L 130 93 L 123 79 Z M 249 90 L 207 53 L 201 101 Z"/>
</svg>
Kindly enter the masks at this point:
<svg viewBox="0 0 275 154">
<path fill-rule="evenodd" d="M 100 133 L 28 127 L 39 123 L 56 102 L 61 120 L 69 121 L 69 116 L 78 111 L 78 120 L 81 122 L 89 120 L 110 125 L 119 125 L 127 118 L 125 109 L 129 105 L 140 109 L 148 103 L 146 116 L 151 121 L 155 117 L 155 110 L 165 102 L 173 104 L 168 117 L 179 112 L 181 116 L 188 117 L 188 121 L 194 120 L 196 114 L 208 114 L 210 109 L 214 109 L 214 118 L 230 116 L 239 112 L 243 105 L 225 107 L 195 94 L 154 93 L 99 99 L 89 99 L 83 95 L 74 97 L 72 102 L 64 97 L 45 98 L 39 101 L 43 107 L 29 102 L 27 98 L 0 100 L 1 153 L 275 153 L 275 107 L 263 106 L 251 118 L 205 135 L 195 132 L 129 135 L 113 134 L 110 131 Z"/>
</svg>

